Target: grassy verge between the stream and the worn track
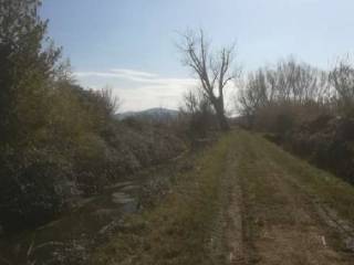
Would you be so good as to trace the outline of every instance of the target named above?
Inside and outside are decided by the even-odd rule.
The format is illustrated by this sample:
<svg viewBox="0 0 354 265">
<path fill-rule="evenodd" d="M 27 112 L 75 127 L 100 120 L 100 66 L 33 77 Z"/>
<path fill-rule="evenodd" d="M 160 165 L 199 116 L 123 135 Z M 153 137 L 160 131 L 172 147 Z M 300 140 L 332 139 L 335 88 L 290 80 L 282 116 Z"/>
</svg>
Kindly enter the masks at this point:
<svg viewBox="0 0 354 265">
<path fill-rule="evenodd" d="M 231 134 L 221 137 L 191 171 L 176 178 L 158 206 L 127 218 L 125 229 L 94 253 L 92 264 L 211 264 L 208 244 L 231 141 Z"/>
</svg>

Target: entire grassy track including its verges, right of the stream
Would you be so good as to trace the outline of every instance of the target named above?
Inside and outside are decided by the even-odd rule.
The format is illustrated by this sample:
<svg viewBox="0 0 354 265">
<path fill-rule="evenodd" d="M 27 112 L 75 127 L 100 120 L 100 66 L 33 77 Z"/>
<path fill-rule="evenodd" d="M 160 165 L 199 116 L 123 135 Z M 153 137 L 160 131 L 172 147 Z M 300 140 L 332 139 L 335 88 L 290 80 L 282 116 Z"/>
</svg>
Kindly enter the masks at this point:
<svg viewBox="0 0 354 265">
<path fill-rule="evenodd" d="M 353 200 L 345 181 L 231 131 L 154 206 L 126 216 L 91 264 L 351 264 Z"/>
</svg>

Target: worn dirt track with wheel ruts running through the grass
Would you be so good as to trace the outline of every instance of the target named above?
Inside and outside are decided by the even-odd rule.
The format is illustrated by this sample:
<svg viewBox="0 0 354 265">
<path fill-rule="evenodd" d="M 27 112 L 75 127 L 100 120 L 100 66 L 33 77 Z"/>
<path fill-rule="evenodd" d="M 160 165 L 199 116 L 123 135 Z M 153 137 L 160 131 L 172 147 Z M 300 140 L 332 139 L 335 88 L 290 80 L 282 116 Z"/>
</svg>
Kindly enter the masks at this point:
<svg viewBox="0 0 354 265">
<path fill-rule="evenodd" d="M 249 134 L 230 148 L 223 237 L 229 264 L 354 264 L 344 237 L 299 178 Z"/>
</svg>

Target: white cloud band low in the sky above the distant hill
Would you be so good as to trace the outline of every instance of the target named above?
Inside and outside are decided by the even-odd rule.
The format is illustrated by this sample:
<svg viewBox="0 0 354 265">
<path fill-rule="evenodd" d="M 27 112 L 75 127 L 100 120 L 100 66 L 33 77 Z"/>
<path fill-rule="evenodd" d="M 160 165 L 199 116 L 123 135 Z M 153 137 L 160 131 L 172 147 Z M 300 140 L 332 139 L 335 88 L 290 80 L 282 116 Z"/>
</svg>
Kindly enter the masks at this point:
<svg viewBox="0 0 354 265">
<path fill-rule="evenodd" d="M 178 108 L 183 93 L 198 84 L 194 78 L 160 77 L 127 68 L 76 72 L 74 75 L 84 87 L 112 87 L 114 94 L 123 100 L 123 112 L 152 107 Z"/>
</svg>

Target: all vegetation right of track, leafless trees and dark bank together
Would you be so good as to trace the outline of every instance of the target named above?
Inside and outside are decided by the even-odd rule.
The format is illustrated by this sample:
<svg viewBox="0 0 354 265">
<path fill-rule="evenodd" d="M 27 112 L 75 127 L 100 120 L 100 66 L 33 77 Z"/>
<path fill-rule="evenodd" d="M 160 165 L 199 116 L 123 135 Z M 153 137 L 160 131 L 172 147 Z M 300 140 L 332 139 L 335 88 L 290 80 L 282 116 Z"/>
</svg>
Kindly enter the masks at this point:
<svg viewBox="0 0 354 265">
<path fill-rule="evenodd" d="M 354 66 L 321 71 L 294 59 L 262 67 L 237 100 L 243 127 L 354 183 Z"/>
</svg>

